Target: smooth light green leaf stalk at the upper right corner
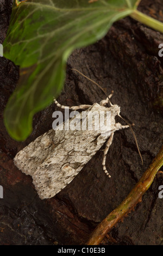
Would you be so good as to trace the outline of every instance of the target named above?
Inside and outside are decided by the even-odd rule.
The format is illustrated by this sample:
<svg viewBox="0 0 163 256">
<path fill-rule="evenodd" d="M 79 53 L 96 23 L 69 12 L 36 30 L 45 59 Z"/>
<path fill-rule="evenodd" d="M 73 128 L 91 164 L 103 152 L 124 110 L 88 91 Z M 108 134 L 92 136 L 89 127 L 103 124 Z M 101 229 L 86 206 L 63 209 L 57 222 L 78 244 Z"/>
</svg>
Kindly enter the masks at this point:
<svg viewBox="0 0 163 256">
<path fill-rule="evenodd" d="M 155 20 L 152 17 L 149 17 L 148 15 L 143 14 L 138 10 L 134 10 L 133 13 L 130 14 L 130 16 L 136 21 L 142 22 L 143 24 L 163 33 L 162 22 Z"/>
</svg>

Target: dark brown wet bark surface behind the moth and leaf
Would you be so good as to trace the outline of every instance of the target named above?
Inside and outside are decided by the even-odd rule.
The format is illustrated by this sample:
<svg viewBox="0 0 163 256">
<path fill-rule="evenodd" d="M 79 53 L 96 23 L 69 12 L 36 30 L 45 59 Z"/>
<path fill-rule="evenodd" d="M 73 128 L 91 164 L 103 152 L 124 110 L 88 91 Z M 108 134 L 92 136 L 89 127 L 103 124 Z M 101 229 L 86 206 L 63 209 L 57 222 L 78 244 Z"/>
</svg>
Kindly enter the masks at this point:
<svg viewBox="0 0 163 256">
<path fill-rule="evenodd" d="M 11 1 L 0 0 L 0 43 L 9 24 Z M 143 13 L 163 21 L 160 0 L 142 0 Z M 163 36 L 127 17 L 111 27 L 104 39 L 73 52 L 67 63 L 64 90 L 58 101 L 63 105 L 91 104 L 105 95 L 71 68 L 82 71 L 108 93 L 114 90 L 112 103 L 121 106 L 121 114 L 135 123 L 144 164 L 137 153 L 129 129 L 115 133 L 106 157 L 111 179 L 102 170 L 103 151 L 86 164 L 76 178 L 57 196 L 41 200 L 30 176 L 22 174 L 13 163 L 17 151 L 36 137 L 52 129 L 51 105 L 37 113 L 33 133 L 22 143 L 12 140 L 3 125 L 3 110 L 18 80 L 18 67 L 0 58 L 0 244 L 74 245 L 85 243 L 91 231 L 128 195 L 152 162 L 162 144 L 163 57 L 158 46 Z M 117 119 L 121 123 L 123 121 Z M 161 245 L 163 241 L 162 200 L 158 188 L 163 176 L 158 174 L 134 212 L 111 230 L 112 243 L 119 245 Z M 106 238 L 103 241 L 110 244 Z"/>
</svg>

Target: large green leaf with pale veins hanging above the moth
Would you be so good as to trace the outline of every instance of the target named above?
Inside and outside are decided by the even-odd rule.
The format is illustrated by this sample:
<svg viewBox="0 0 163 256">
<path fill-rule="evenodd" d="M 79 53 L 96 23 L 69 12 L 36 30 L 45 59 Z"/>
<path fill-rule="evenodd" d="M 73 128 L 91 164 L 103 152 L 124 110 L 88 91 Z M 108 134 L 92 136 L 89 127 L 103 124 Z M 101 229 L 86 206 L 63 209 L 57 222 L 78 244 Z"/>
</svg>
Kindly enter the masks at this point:
<svg viewBox="0 0 163 256">
<path fill-rule="evenodd" d="M 20 80 L 4 112 L 17 141 L 32 132 L 33 115 L 61 92 L 68 56 L 103 38 L 113 22 L 133 13 L 134 0 L 14 1 L 4 56 L 20 65 Z M 140 2 L 140 1 L 139 1 Z"/>
</svg>

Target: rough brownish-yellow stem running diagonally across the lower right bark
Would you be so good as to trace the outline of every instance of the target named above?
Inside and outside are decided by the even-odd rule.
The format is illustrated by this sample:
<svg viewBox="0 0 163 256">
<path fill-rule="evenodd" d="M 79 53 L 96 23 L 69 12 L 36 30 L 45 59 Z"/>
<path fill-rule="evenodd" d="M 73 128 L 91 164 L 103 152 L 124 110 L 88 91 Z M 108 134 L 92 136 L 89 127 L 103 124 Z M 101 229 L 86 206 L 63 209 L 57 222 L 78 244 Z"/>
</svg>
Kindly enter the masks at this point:
<svg viewBox="0 0 163 256">
<path fill-rule="evenodd" d="M 135 185 L 133 190 L 131 190 L 128 197 L 97 226 L 95 231 L 93 231 L 87 245 L 99 245 L 111 228 L 114 227 L 117 222 L 121 221 L 123 217 L 127 216 L 137 203 L 141 202 L 143 194 L 151 186 L 156 173 L 162 166 L 163 146 L 142 178 Z"/>
</svg>

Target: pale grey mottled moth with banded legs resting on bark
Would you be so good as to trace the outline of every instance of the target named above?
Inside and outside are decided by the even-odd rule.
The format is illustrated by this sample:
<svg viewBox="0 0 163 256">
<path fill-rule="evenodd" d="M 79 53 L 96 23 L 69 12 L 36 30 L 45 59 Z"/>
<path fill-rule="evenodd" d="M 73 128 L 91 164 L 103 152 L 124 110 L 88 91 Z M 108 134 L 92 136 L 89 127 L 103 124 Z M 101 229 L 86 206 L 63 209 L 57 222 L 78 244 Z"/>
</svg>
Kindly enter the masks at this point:
<svg viewBox="0 0 163 256">
<path fill-rule="evenodd" d="M 92 81 L 90 78 L 88 79 Z M 102 87 L 100 88 L 104 91 Z M 17 153 L 14 158 L 15 165 L 26 175 L 32 176 L 33 184 L 41 199 L 54 197 L 55 194 L 69 184 L 105 142 L 102 166 L 105 174 L 109 178 L 111 177 L 106 170 L 105 160 L 114 137 L 114 132 L 130 127 L 128 123 L 127 125 L 121 125 L 115 122 L 116 115 L 121 117 L 120 107 L 112 105 L 110 102 L 111 96 L 112 93 L 107 95 L 106 100 L 102 100 L 99 104 L 94 103 L 92 106 L 66 107 L 60 105 L 57 100 L 54 100 L 60 108 L 70 108 L 74 111 L 77 111 L 77 109 L 87 109 L 89 113 L 96 112 L 97 115 L 101 112 L 109 112 L 110 127 L 105 126 L 103 131 L 52 129 L 36 138 L 35 141 Z M 110 103 L 110 107 L 106 106 L 108 103 Z M 82 113 L 77 115 L 79 120 L 81 115 Z M 95 121 L 95 119 L 93 120 Z M 67 122 L 70 122 L 70 120 L 66 120 L 64 126 L 66 126 Z"/>
</svg>

